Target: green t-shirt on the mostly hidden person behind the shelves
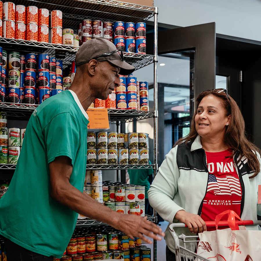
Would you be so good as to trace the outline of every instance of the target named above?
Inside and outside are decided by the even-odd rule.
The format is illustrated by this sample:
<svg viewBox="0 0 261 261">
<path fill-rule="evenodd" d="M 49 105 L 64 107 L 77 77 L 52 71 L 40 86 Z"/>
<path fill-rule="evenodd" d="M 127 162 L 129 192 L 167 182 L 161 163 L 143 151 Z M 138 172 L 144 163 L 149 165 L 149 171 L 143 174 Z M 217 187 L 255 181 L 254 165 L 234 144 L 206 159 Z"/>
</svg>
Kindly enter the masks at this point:
<svg viewBox="0 0 261 261">
<path fill-rule="evenodd" d="M 149 161 L 151 164 L 151 161 Z M 145 186 L 145 198 L 148 198 L 148 190 L 150 188 L 149 175 L 153 175 L 152 168 L 128 169 L 130 175 L 130 183 L 133 185 Z"/>
</svg>

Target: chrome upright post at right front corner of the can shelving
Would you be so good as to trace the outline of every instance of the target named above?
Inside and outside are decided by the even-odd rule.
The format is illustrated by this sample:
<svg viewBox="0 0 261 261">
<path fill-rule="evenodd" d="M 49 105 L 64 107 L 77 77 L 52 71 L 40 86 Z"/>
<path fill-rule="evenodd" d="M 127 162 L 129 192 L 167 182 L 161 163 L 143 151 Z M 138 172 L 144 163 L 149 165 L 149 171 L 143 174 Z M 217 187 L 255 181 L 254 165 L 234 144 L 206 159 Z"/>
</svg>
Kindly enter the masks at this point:
<svg viewBox="0 0 261 261">
<path fill-rule="evenodd" d="M 158 82 L 157 82 L 157 65 L 158 65 L 158 8 L 154 11 L 154 178 L 158 170 L 158 150 L 157 150 L 157 136 L 158 136 Z M 154 209 L 155 222 L 157 222 L 156 210 Z M 153 240 L 153 260 L 157 261 L 157 240 Z"/>
</svg>

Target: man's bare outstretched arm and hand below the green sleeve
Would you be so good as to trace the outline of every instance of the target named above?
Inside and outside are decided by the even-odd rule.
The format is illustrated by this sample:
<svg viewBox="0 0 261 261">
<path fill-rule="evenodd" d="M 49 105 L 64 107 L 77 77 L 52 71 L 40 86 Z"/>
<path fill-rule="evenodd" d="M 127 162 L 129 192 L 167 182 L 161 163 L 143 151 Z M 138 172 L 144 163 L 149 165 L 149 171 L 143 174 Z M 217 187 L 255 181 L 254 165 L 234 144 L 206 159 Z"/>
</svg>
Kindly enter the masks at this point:
<svg viewBox="0 0 261 261">
<path fill-rule="evenodd" d="M 141 238 L 147 243 L 152 242 L 144 235 L 157 240 L 161 240 L 161 237 L 153 233 L 164 236 L 162 229 L 146 218 L 115 212 L 72 186 L 69 180 L 73 166 L 69 157 L 56 157 L 49 163 L 49 170 L 50 196 L 60 204 L 81 215 L 105 222 L 131 238 Z"/>
</svg>

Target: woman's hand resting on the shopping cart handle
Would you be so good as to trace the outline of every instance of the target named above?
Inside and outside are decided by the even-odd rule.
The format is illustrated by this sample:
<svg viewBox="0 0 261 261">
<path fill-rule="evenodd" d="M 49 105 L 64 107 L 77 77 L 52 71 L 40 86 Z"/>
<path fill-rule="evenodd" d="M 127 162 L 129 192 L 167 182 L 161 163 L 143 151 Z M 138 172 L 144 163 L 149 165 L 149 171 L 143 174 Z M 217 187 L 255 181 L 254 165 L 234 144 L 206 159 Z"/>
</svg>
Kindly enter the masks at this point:
<svg viewBox="0 0 261 261">
<path fill-rule="evenodd" d="M 174 218 L 182 223 L 185 223 L 188 226 L 189 231 L 192 233 L 201 233 L 206 231 L 206 223 L 199 215 L 180 210 L 176 213 Z"/>
</svg>

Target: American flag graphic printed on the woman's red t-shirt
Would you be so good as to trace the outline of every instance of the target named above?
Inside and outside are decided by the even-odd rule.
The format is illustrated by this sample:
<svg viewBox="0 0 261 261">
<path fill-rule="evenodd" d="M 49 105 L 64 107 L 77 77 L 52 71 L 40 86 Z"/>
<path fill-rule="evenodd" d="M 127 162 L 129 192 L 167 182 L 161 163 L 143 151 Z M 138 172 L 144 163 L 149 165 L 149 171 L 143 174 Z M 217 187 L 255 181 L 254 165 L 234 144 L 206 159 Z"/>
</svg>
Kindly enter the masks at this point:
<svg viewBox="0 0 261 261">
<path fill-rule="evenodd" d="M 213 191 L 215 195 L 238 195 L 241 196 L 241 186 L 238 179 L 227 175 L 226 177 L 216 177 L 209 174 L 207 192 Z"/>
</svg>

